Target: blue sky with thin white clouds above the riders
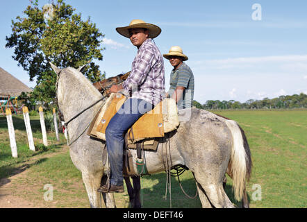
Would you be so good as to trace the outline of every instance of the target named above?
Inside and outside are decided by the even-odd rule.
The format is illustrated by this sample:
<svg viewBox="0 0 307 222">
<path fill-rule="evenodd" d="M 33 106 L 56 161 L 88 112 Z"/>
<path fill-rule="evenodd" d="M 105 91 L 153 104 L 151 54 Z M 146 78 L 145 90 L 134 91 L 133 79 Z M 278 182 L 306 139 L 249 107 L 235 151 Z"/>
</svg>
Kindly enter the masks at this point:
<svg viewBox="0 0 307 222">
<path fill-rule="evenodd" d="M 40 0 L 40 6 L 49 3 Z M 107 77 L 131 69 L 137 49 L 115 28 L 142 19 L 162 28 L 155 42 L 161 53 L 179 45 L 195 78 L 194 99 L 235 100 L 307 94 L 307 1 L 98 1 L 66 0 L 105 35 Z M 260 20 L 252 15 L 261 6 Z M 11 20 L 24 16 L 28 0 L 1 1 L 0 67 L 30 87 L 28 74 L 5 49 Z M 258 8 L 259 10 L 259 8 Z M 165 87 L 172 66 L 165 60 Z"/>
</svg>

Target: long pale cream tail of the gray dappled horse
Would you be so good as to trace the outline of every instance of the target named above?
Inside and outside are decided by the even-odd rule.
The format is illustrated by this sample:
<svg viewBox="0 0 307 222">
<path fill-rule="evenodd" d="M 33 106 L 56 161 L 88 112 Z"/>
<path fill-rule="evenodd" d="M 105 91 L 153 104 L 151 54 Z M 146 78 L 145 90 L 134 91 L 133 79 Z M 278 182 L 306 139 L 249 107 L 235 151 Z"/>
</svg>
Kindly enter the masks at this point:
<svg viewBox="0 0 307 222">
<path fill-rule="evenodd" d="M 233 179 L 235 199 L 240 201 L 243 198 L 243 194 L 246 194 L 246 182 L 251 177 L 251 151 L 249 150 L 245 133 L 238 123 L 230 119 L 227 119 L 225 123 L 233 136 L 231 159 L 227 174 Z"/>
</svg>

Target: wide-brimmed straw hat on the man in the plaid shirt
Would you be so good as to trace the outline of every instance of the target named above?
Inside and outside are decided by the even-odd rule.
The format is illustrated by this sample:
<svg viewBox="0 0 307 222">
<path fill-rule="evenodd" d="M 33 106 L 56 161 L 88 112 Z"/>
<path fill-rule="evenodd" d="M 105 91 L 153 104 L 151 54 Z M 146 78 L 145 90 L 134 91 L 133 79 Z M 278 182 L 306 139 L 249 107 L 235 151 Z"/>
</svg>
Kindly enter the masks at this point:
<svg viewBox="0 0 307 222">
<path fill-rule="evenodd" d="M 147 28 L 149 30 L 149 38 L 153 39 L 157 37 L 161 33 L 161 28 L 154 24 L 149 24 L 140 19 L 134 19 L 130 22 L 128 26 L 125 27 L 117 27 L 116 31 L 120 35 L 124 35 L 124 37 L 129 37 L 128 29 L 130 28 Z"/>
</svg>

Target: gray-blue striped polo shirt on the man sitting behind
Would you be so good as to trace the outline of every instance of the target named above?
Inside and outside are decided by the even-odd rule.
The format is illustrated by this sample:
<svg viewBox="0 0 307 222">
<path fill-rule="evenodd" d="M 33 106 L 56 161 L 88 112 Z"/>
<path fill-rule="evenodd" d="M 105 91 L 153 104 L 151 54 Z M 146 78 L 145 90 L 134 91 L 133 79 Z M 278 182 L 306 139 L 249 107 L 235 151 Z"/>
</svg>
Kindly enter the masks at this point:
<svg viewBox="0 0 307 222">
<path fill-rule="evenodd" d="M 185 87 L 183 97 L 177 103 L 179 110 L 192 108 L 194 98 L 194 75 L 190 67 L 188 67 L 185 62 L 182 62 L 178 69 L 172 70 L 169 85 L 170 87 L 168 94 L 170 96 L 172 96 L 172 94 L 175 92 L 176 87 Z"/>
</svg>

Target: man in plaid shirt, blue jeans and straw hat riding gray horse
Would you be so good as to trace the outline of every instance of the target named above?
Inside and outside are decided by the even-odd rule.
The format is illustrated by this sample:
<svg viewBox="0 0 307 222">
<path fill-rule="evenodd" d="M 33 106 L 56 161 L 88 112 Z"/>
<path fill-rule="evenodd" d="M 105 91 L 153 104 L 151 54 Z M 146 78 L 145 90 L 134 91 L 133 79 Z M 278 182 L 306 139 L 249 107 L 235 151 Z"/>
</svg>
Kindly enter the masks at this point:
<svg viewBox="0 0 307 222">
<path fill-rule="evenodd" d="M 161 29 L 140 19 L 133 20 L 129 26 L 116 28 L 116 31 L 128 37 L 138 48 L 133 60 L 131 74 L 122 85 L 113 85 L 110 92 L 123 90 L 129 97 L 106 128 L 106 146 L 110 162 L 110 183 L 103 185 L 98 191 L 124 192 L 123 148 L 124 133 L 131 128 L 143 114 L 149 112 L 163 99 L 165 93 L 163 56 L 154 43 Z"/>
</svg>

